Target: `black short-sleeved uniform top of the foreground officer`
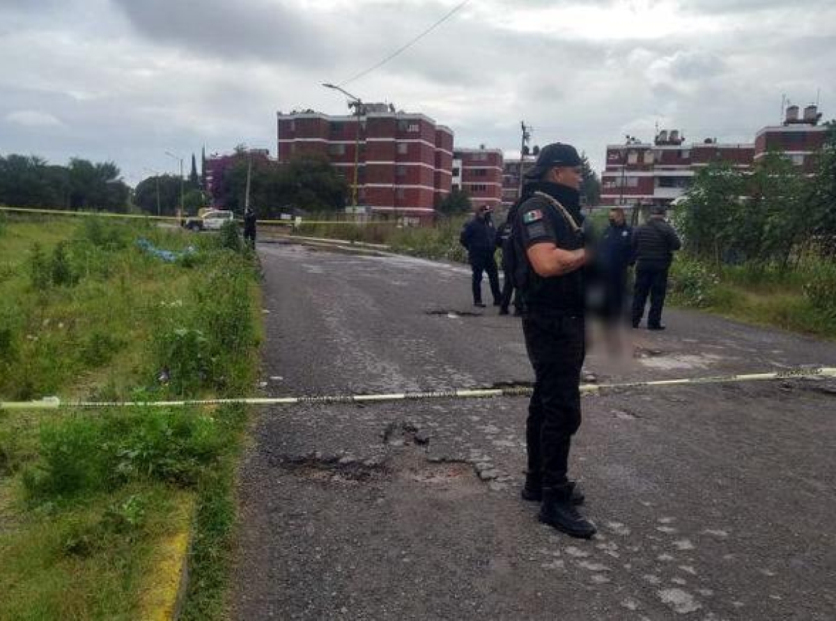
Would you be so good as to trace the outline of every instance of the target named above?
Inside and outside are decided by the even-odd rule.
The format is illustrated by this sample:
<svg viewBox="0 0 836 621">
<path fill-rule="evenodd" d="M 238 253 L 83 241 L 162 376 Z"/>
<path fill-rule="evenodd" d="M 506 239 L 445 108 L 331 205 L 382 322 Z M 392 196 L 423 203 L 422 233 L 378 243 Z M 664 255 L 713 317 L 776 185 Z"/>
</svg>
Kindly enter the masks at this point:
<svg viewBox="0 0 836 621">
<path fill-rule="evenodd" d="M 584 233 L 574 231 L 566 216 L 542 197 L 533 196 L 520 206 L 517 227 L 526 251 L 543 242 L 553 243 L 562 250 L 584 247 Z M 531 268 L 522 294 L 523 303 L 533 313 L 583 313 L 583 271 L 541 277 Z"/>
</svg>

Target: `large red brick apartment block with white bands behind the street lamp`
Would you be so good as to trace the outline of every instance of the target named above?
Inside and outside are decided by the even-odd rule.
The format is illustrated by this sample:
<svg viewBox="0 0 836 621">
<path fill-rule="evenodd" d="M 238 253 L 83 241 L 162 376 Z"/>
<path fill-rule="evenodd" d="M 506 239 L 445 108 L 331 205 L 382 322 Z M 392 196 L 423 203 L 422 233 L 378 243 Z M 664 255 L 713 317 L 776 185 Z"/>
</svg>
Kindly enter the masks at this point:
<svg viewBox="0 0 836 621">
<path fill-rule="evenodd" d="M 357 202 L 375 216 L 427 221 L 450 193 L 452 130 L 387 104 L 364 104 L 359 117 L 278 112 L 277 143 L 280 163 L 303 153 L 327 155 L 349 186 L 356 159 Z"/>
</svg>

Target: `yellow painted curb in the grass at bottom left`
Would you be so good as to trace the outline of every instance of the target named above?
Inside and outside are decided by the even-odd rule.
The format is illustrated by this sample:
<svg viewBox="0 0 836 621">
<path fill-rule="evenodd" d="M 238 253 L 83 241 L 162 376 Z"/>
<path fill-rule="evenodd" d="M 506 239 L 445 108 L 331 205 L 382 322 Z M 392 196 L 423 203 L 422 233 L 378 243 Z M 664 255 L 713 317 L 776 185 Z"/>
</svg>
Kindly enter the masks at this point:
<svg viewBox="0 0 836 621">
<path fill-rule="evenodd" d="M 137 618 L 143 621 L 172 621 L 180 615 L 189 583 L 189 551 L 195 517 L 193 494 L 183 493 L 177 499 L 171 533 L 157 548 L 150 563 L 150 575 L 140 595 Z"/>
</svg>

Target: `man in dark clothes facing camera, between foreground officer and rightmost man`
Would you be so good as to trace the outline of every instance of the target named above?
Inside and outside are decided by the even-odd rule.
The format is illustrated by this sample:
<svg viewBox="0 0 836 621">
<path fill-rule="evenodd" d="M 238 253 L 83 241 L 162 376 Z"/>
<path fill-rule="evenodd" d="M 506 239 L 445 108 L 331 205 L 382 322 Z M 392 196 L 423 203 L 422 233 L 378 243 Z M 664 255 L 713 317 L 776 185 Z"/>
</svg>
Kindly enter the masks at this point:
<svg viewBox="0 0 836 621">
<path fill-rule="evenodd" d="M 624 317 L 624 293 L 627 288 L 627 270 L 632 259 L 633 230 L 624 220 L 624 210 L 609 210 L 609 227 L 598 245 L 597 262 L 604 285 L 604 320 L 609 323 Z"/>
</svg>

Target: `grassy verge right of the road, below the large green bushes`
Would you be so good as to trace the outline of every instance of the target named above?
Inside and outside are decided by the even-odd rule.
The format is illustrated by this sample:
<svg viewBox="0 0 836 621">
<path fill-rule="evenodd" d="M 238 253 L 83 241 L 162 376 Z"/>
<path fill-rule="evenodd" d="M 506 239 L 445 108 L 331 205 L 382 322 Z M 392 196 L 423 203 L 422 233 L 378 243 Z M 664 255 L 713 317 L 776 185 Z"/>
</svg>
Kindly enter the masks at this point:
<svg viewBox="0 0 836 621">
<path fill-rule="evenodd" d="M 670 272 L 670 300 L 747 323 L 836 338 L 836 266 L 808 257 L 792 268 L 709 267 L 687 255 Z"/>
</svg>

